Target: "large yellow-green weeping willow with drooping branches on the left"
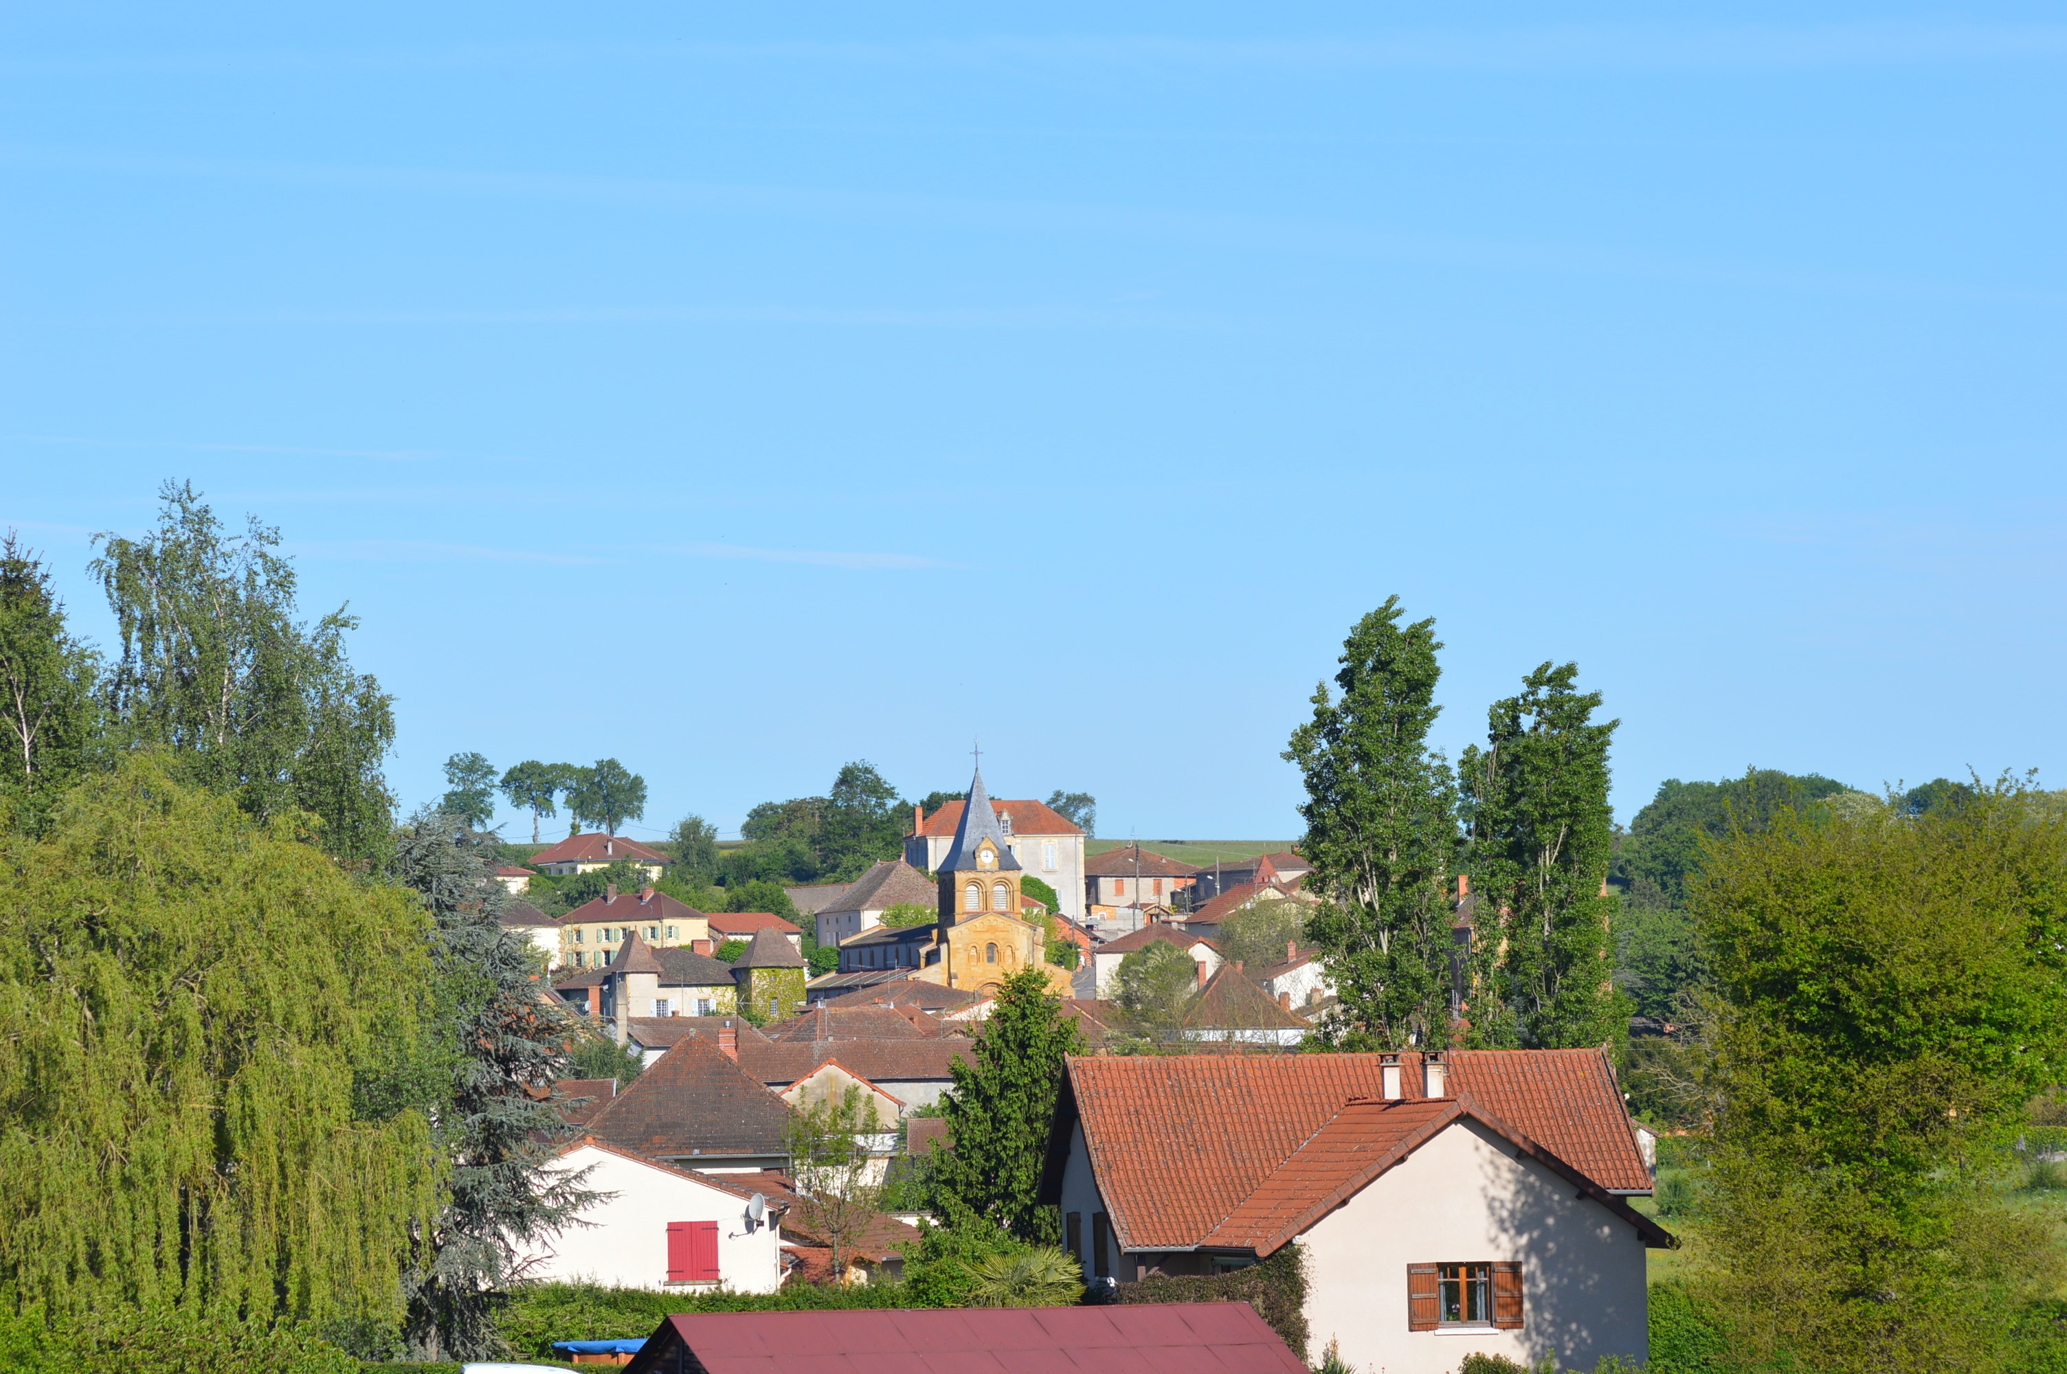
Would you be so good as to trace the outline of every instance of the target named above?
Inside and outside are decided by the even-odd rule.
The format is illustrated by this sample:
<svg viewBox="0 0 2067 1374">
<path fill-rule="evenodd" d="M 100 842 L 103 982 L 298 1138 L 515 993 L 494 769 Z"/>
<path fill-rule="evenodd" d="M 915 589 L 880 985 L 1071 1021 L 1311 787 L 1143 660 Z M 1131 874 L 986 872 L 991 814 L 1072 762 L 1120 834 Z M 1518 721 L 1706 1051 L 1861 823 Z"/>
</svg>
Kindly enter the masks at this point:
<svg viewBox="0 0 2067 1374">
<path fill-rule="evenodd" d="M 306 820 L 306 818 L 304 818 Z M 426 917 L 151 756 L 0 862 L 0 1300 L 401 1318 Z"/>
</svg>

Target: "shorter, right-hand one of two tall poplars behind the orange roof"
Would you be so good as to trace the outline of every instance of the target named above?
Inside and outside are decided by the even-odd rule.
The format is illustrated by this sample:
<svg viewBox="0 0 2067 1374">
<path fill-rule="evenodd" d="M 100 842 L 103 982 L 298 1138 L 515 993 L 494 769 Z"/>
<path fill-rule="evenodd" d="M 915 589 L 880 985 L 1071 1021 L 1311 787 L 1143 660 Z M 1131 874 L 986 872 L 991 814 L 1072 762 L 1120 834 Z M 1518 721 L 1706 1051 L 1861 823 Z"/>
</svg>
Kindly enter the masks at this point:
<svg viewBox="0 0 2067 1374">
<path fill-rule="evenodd" d="M 1627 1033 L 1606 895 L 1614 843 L 1600 692 L 1544 663 L 1486 713 L 1486 748 L 1457 760 L 1472 882 L 1472 1041 L 1538 1050 Z"/>
</svg>

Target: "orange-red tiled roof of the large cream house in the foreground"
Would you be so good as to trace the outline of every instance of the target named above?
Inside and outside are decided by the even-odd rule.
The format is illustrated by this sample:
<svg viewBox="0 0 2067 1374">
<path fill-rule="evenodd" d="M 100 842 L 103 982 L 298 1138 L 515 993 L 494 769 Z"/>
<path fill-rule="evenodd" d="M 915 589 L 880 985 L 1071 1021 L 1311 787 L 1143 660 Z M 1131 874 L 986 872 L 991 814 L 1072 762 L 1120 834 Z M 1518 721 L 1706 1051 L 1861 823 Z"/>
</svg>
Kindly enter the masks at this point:
<svg viewBox="0 0 2067 1374">
<path fill-rule="evenodd" d="M 1449 1085 L 1600 1188 L 1645 1192 L 1649 1169 L 1598 1050 L 1457 1050 Z M 1422 1062 L 1401 1056 L 1406 1101 Z M 1083 1122 L 1120 1244 L 1184 1248 L 1242 1207 L 1348 1103 L 1383 1097 L 1377 1054 L 1073 1058 L 1062 1118 Z M 1050 1174 L 1058 1167 L 1050 1143 Z M 1058 1176 L 1056 1176 L 1058 1178 Z"/>
</svg>

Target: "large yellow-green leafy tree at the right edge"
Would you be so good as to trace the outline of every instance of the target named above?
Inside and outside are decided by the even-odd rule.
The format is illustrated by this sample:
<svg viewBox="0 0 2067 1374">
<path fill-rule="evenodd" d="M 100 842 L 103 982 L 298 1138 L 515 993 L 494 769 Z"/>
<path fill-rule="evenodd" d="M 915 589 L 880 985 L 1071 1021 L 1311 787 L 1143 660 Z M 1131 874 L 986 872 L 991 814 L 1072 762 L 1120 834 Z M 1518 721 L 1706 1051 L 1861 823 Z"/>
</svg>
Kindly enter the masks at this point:
<svg viewBox="0 0 2067 1374">
<path fill-rule="evenodd" d="M 2013 783 L 1916 818 L 1780 810 L 1693 891 L 1714 967 L 1703 1291 L 1734 1349 L 1997 1370 L 2057 1273 L 1991 1172 L 2067 1037 L 2067 822 Z"/>
</svg>

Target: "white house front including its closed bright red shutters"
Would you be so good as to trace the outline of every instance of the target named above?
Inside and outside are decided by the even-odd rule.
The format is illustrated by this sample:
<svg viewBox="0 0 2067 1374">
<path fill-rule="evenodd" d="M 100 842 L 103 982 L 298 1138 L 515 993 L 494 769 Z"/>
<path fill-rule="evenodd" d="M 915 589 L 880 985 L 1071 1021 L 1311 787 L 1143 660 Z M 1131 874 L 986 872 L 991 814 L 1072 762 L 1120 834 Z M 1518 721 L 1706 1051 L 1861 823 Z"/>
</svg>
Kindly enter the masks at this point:
<svg viewBox="0 0 2067 1374">
<path fill-rule="evenodd" d="M 593 1136 L 552 1161 L 597 1198 L 527 1252 L 531 1277 L 701 1293 L 781 1287 L 781 1209 L 750 1184 L 659 1163 Z"/>
</svg>

